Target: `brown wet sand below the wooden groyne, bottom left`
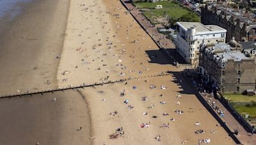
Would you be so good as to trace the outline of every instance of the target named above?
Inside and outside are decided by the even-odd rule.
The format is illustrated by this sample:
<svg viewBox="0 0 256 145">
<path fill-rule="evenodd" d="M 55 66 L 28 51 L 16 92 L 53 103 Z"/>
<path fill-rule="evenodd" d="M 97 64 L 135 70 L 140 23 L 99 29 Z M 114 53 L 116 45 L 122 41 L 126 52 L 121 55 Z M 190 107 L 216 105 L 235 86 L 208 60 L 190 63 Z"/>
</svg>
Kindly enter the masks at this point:
<svg viewBox="0 0 256 145">
<path fill-rule="evenodd" d="M 84 99 L 77 90 L 0 99 L 0 144 L 91 144 Z"/>
</svg>

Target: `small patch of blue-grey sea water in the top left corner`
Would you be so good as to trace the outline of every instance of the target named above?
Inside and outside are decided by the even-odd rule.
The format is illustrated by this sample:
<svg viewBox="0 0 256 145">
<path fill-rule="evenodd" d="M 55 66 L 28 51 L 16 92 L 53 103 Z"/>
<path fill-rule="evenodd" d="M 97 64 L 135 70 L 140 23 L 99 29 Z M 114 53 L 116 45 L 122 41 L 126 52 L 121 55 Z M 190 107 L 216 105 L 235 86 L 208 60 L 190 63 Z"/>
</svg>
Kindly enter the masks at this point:
<svg viewBox="0 0 256 145">
<path fill-rule="evenodd" d="M 19 15 L 22 11 L 20 3 L 28 3 L 32 0 L 0 0 L 0 18 L 8 14 L 10 19 Z"/>
</svg>

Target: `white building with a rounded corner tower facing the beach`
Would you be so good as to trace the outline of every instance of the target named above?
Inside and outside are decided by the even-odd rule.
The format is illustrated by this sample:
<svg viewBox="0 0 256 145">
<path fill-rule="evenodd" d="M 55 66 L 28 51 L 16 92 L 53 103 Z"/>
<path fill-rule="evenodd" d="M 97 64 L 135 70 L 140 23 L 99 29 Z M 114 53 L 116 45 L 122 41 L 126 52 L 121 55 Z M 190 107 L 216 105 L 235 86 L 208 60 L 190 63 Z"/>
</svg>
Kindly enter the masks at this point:
<svg viewBox="0 0 256 145">
<path fill-rule="evenodd" d="M 225 43 L 226 30 L 217 25 L 203 25 L 199 22 L 177 22 L 176 50 L 189 64 L 199 62 L 200 44 Z"/>
</svg>

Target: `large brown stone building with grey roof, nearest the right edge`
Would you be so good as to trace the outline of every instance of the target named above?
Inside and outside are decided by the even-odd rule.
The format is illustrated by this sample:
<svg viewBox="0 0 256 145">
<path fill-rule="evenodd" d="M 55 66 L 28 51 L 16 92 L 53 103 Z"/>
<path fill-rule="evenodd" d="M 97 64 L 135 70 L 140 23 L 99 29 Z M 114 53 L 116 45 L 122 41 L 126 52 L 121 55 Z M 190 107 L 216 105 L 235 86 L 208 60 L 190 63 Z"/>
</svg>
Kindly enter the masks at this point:
<svg viewBox="0 0 256 145">
<path fill-rule="evenodd" d="M 221 93 L 255 90 L 255 59 L 246 57 L 241 45 L 201 45 L 198 71 Z"/>
</svg>

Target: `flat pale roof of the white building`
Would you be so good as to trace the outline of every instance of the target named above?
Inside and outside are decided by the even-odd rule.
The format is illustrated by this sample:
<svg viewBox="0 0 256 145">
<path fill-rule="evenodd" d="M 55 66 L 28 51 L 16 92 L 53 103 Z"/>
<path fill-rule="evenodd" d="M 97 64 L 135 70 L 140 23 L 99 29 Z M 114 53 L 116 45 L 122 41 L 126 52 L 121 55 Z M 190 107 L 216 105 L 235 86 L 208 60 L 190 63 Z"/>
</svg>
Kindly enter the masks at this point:
<svg viewBox="0 0 256 145">
<path fill-rule="evenodd" d="M 195 27 L 196 32 L 226 31 L 217 25 L 203 25 L 200 22 L 177 22 L 177 24 L 186 31 L 188 31 L 190 27 Z"/>
</svg>

